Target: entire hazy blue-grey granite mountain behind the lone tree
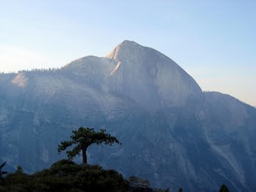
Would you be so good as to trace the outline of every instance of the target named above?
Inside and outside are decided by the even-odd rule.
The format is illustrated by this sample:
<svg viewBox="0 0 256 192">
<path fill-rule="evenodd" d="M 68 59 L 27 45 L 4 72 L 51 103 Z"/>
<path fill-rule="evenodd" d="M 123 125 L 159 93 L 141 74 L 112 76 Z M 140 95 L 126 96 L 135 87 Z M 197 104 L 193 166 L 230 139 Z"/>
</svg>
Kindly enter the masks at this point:
<svg viewBox="0 0 256 192">
<path fill-rule="evenodd" d="M 203 93 L 151 48 L 124 41 L 104 58 L 1 74 L 0 90 L 0 161 L 9 168 L 48 167 L 73 129 L 105 127 L 122 145 L 90 147 L 90 163 L 160 188 L 256 190 L 256 109 Z"/>
</svg>

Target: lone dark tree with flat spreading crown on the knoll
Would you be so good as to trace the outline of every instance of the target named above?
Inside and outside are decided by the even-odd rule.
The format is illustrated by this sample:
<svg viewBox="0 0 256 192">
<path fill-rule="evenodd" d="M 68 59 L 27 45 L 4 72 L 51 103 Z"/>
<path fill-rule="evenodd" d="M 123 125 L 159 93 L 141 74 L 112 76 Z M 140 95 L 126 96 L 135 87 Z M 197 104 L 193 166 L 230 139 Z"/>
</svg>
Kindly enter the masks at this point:
<svg viewBox="0 0 256 192">
<path fill-rule="evenodd" d="M 66 151 L 67 157 L 71 160 L 74 156 L 80 154 L 80 151 L 82 151 L 83 163 L 87 163 L 86 149 L 93 143 L 97 145 L 100 145 L 100 143 L 104 143 L 106 145 L 120 143 L 114 136 L 107 134 L 105 129 L 100 129 L 99 132 L 96 132 L 93 128 L 89 127 L 80 127 L 78 130 L 73 131 L 70 139 L 71 141 L 61 141 L 58 147 L 59 154 L 66 150 L 67 147 L 74 145 L 72 150 Z"/>
</svg>

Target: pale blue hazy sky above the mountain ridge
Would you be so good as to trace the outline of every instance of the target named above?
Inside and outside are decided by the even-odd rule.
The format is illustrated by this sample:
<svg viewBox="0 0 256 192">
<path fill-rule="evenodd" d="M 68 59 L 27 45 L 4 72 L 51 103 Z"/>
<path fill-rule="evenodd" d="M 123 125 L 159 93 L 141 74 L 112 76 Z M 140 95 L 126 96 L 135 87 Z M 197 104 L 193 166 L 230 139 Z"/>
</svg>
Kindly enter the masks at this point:
<svg viewBox="0 0 256 192">
<path fill-rule="evenodd" d="M 256 106 L 255 0 L 0 3 L 0 72 L 105 56 L 128 39 L 175 60 L 204 91 Z"/>
</svg>

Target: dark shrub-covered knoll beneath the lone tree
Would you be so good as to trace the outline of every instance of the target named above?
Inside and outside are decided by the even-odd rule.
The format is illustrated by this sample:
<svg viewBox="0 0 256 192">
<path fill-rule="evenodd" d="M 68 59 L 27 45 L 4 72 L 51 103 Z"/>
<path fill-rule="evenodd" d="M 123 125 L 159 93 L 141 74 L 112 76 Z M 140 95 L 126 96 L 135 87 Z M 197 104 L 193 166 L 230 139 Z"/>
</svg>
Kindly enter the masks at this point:
<svg viewBox="0 0 256 192">
<path fill-rule="evenodd" d="M 124 192 L 128 182 L 114 170 L 104 170 L 100 166 L 77 165 L 73 161 L 62 160 L 33 175 L 16 171 L 6 176 L 0 191 L 64 191 L 64 192 Z"/>
</svg>

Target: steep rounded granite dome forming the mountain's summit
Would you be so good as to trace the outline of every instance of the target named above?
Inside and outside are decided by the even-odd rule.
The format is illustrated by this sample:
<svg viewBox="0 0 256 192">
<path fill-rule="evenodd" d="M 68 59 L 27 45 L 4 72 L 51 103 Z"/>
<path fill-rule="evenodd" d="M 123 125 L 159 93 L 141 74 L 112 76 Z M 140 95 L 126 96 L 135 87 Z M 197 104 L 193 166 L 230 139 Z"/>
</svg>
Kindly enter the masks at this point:
<svg viewBox="0 0 256 192">
<path fill-rule="evenodd" d="M 124 41 L 107 58 L 116 63 L 110 88 L 150 110 L 184 106 L 190 94 L 202 93 L 195 80 L 179 65 L 149 47 Z"/>
</svg>

